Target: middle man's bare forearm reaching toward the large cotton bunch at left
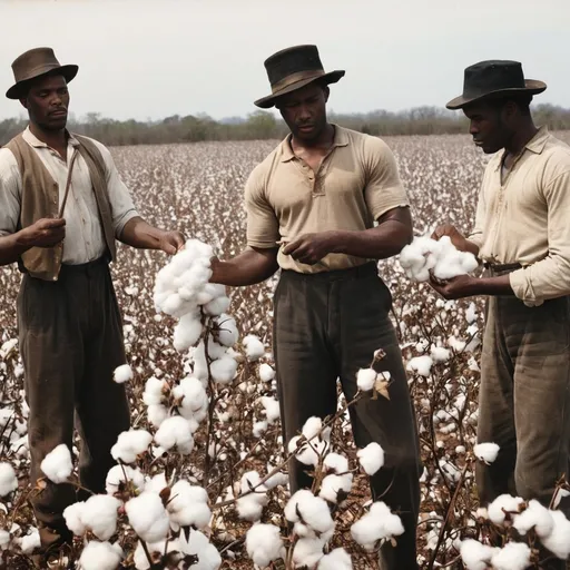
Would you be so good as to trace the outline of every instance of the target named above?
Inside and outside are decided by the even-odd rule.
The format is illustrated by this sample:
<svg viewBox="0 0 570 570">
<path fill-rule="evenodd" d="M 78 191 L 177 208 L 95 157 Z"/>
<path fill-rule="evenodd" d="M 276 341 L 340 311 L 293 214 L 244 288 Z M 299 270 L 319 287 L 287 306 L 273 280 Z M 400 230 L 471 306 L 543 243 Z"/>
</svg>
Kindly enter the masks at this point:
<svg viewBox="0 0 570 570">
<path fill-rule="evenodd" d="M 247 249 L 227 262 L 214 259 L 210 282 L 232 287 L 255 285 L 268 279 L 278 268 L 277 249 Z"/>
</svg>

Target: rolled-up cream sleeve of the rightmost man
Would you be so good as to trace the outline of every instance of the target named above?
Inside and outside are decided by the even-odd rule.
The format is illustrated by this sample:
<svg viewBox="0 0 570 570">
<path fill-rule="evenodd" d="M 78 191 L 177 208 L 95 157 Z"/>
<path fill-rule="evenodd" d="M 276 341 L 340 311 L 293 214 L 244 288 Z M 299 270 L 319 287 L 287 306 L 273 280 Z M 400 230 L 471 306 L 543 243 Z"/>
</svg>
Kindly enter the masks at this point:
<svg viewBox="0 0 570 570">
<path fill-rule="evenodd" d="M 548 207 L 547 257 L 510 274 L 511 287 L 529 306 L 570 294 L 570 170 L 544 189 Z"/>
</svg>

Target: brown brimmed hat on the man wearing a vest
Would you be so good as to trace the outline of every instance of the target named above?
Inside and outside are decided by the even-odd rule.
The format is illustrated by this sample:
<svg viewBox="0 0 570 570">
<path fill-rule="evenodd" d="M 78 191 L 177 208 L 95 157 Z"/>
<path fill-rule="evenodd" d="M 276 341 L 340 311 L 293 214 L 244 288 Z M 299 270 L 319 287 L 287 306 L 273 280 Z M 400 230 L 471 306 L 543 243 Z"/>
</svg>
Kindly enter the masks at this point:
<svg viewBox="0 0 570 570">
<path fill-rule="evenodd" d="M 35 48 L 13 60 L 12 71 L 16 83 L 8 89 L 8 99 L 20 99 L 26 94 L 30 81 L 41 76 L 60 73 L 66 81 L 71 81 L 79 70 L 78 66 L 61 66 L 51 48 Z"/>
</svg>

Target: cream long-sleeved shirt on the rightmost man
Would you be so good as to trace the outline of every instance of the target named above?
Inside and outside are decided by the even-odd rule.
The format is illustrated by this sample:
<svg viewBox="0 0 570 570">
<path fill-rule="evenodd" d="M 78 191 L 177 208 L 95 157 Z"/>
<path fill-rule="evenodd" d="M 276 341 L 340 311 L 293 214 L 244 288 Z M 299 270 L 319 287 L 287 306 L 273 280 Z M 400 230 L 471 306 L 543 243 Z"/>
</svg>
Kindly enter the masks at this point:
<svg viewBox="0 0 570 570">
<path fill-rule="evenodd" d="M 570 147 L 542 127 L 501 180 L 504 154 L 489 161 L 469 237 L 484 262 L 520 263 L 510 274 L 527 305 L 570 294 Z"/>
</svg>

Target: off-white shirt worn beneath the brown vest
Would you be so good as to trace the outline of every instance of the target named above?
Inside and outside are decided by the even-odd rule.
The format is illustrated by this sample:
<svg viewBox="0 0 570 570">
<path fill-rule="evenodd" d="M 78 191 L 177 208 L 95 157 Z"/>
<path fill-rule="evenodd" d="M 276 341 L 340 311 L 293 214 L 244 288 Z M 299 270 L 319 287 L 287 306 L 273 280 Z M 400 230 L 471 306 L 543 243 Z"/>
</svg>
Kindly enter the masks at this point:
<svg viewBox="0 0 570 570">
<path fill-rule="evenodd" d="M 69 163 L 73 147 L 79 141 L 72 136 L 67 148 L 67 161 L 59 153 L 39 140 L 29 128 L 23 132 L 23 139 L 38 154 L 41 161 L 59 185 L 59 202 L 63 200 Z M 94 140 L 100 150 L 107 170 L 107 189 L 111 206 L 112 225 L 116 237 L 129 219 L 137 216 L 137 210 L 130 194 L 119 177 L 117 167 L 109 150 Z M 0 235 L 17 232 L 20 218 L 22 178 L 18 163 L 8 148 L 0 149 Z M 63 240 L 62 263 L 81 264 L 92 262 L 105 254 L 105 237 L 97 208 L 97 200 L 91 186 L 89 169 L 83 158 L 78 155 L 71 174 L 71 185 L 63 212 L 66 219 L 66 238 Z"/>
</svg>

